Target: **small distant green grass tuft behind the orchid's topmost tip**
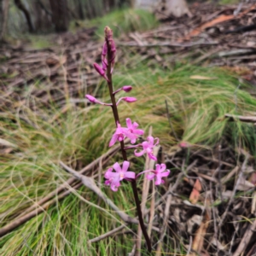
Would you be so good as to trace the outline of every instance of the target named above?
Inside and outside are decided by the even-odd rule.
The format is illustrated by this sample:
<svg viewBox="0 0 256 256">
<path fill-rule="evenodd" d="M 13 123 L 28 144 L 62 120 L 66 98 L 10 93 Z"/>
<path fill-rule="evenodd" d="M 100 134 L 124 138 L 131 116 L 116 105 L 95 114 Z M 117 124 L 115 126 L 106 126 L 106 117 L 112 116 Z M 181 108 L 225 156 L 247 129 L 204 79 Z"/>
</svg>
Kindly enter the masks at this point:
<svg viewBox="0 0 256 256">
<path fill-rule="evenodd" d="M 158 26 L 158 21 L 154 15 L 142 9 L 119 9 L 108 15 L 91 20 L 91 23 L 98 26 L 97 37 L 102 37 L 105 26 L 110 26 L 113 30 L 114 38 L 122 33 L 143 32 Z"/>
</svg>

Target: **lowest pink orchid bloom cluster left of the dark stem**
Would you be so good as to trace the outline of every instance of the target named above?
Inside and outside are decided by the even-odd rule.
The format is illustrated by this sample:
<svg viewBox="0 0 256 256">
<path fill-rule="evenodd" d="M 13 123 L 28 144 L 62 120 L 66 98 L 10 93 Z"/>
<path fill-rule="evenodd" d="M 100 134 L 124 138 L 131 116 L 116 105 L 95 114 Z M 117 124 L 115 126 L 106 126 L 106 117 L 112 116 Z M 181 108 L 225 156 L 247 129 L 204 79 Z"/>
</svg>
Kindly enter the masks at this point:
<svg viewBox="0 0 256 256">
<path fill-rule="evenodd" d="M 116 162 L 113 165 L 113 168 L 109 168 L 105 173 L 104 177 L 107 178 L 105 181 L 106 185 L 110 185 L 110 188 L 113 191 L 117 191 L 120 186 L 120 181 L 123 179 L 134 179 L 135 172 L 127 171 L 130 166 L 130 162 L 124 161 L 122 168 L 119 166 L 119 163 Z M 115 172 L 113 172 L 113 169 Z"/>
</svg>

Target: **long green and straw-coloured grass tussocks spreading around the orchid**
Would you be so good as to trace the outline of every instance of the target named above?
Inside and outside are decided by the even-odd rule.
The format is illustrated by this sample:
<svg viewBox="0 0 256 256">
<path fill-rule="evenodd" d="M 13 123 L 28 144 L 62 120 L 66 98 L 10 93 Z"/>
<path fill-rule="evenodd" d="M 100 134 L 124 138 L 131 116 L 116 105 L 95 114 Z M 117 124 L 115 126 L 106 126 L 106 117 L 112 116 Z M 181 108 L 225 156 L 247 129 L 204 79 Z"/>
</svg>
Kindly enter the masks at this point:
<svg viewBox="0 0 256 256">
<path fill-rule="evenodd" d="M 154 137 L 160 137 L 161 145 L 172 150 L 178 142 L 172 136 L 166 117 L 167 101 L 172 125 L 180 140 L 211 147 L 225 136 L 230 145 L 242 145 L 256 155 L 255 127 L 224 119 L 224 113 L 249 115 L 256 112 L 256 99 L 247 93 L 246 84 L 238 89 L 236 77 L 216 68 L 185 65 L 163 70 L 148 68 L 145 64 L 133 67 L 129 72 L 125 67 L 119 68 L 113 77 L 115 89 L 132 84 L 134 88 L 129 95 L 138 99 L 133 104 L 120 104 L 122 124 L 125 118 L 131 117 L 145 129 L 146 135 L 152 125 Z M 191 79 L 192 75 L 216 79 Z M 108 91 L 104 85 L 96 94 L 107 102 Z M 37 86 L 39 90 L 44 84 Z M 119 94 L 122 95 L 125 93 Z M 11 152 L 1 151 L 0 154 L 1 226 L 70 177 L 59 166 L 60 160 L 79 170 L 108 150 L 114 131 L 110 108 L 99 105 L 73 108 L 68 101 L 61 110 L 55 103 L 45 108 L 40 99 L 29 95 L 26 102 L 3 100 L 8 102 L 8 107 L 1 107 L 0 134 L 14 145 Z M 143 162 L 132 159 L 132 151 L 129 157 L 132 170 L 143 168 Z M 119 155 L 108 165 L 116 160 Z M 99 182 L 103 183 L 103 178 Z M 119 208 L 131 216 L 135 214 L 129 183 L 122 183 L 118 193 L 103 185 L 102 190 Z M 89 239 L 119 226 L 118 219 L 89 189 L 81 188 L 1 237 L 0 254 L 126 255 L 134 244 L 132 233 L 110 236 L 88 245 Z M 174 250 L 176 248 L 170 248 L 170 252 Z M 179 253 L 184 253 L 182 248 Z"/>
</svg>

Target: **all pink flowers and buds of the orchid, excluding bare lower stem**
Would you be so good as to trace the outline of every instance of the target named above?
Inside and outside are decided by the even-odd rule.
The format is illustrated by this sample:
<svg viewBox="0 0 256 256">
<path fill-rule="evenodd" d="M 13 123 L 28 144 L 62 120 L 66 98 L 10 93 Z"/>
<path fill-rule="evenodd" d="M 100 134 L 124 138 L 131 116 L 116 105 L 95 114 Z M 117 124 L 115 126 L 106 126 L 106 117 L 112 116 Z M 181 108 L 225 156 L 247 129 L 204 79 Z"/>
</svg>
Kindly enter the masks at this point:
<svg viewBox="0 0 256 256">
<path fill-rule="evenodd" d="M 107 55 L 109 55 L 108 59 L 107 59 Z M 97 63 L 94 63 L 94 67 L 96 69 L 96 72 L 99 73 L 104 79 L 106 79 L 108 83 L 110 83 L 110 79 L 108 77 L 108 65 L 111 66 L 109 67 L 109 70 L 110 70 L 110 73 L 112 74 L 115 55 L 116 55 L 116 48 L 113 41 L 113 34 L 111 29 L 108 28 L 107 26 L 105 28 L 105 42 L 102 48 L 102 67 Z M 112 95 L 114 96 L 121 90 L 124 90 L 125 92 L 129 92 L 132 90 L 132 86 L 124 85 L 118 90 L 113 91 Z M 86 95 L 85 97 L 92 103 L 113 107 L 113 103 L 111 104 L 111 103 L 100 102 L 94 96 Z M 118 106 L 119 102 L 121 101 L 136 102 L 137 99 L 135 97 L 129 97 L 129 96 L 120 97 L 119 100 L 116 102 L 116 106 Z M 119 124 L 119 120 L 116 120 L 116 130 L 114 131 L 113 136 L 109 142 L 109 147 L 112 147 L 113 144 L 116 143 L 117 141 L 123 142 L 127 137 L 130 139 L 132 145 L 124 148 L 125 150 L 128 150 L 130 148 L 136 148 L 136 150 L 134 151 L 134 154 L 137 157 L 142 156 L 143 154 L 148 154 L 148 157 L 150 159 L 157 160 L 156 156 L 153 154 L 153 148 L 159 144 L 159 139 L 157 137 L 154 138 L 152 136 L 149 136 L 147 140 L 144 141 L 143 143 L 137 143 L 136 145 L 134 145 L 137 142 L 137 138 L 139 136 L 143 136 L 144 134 L 144 131 L 141 129 L 137 129 L 137 127 L 138 127 L 137 122 L 132 123 L 130 118 L 126 119 L 126 127 L 121 126 Z M 142 148 L 142 150 L 138 151 L 138 148 Z M 137 177 L 139 177 L 141 174 L 145 172 L 150 172 L 150 174 L 148 174 L 146 177 L 149 180 L 155 179 L 155 185 L 160 185 L 161 183 L 164 183 L 164 180 L 162 179 L 162 177 L 166 177 L 170 173 L 169 170 L 166 170 L 165 164 L 161 164 L 161 165 L 157 164 L 155 166 L 156 167 L 155 170 L 146 170 L 144 172 L 138 173 L 137 175 L 135 172 L 127 171 L 129 166 L 130 166 L 130 162 L 127 160 L 123 162 L 122 168 L 119 166 L 119 163 L 115 163 L 113 165 L 113 168 L 109 168 L 108 171 L 105 173 L 104 177 L 107 179 L 105 184 L 110 185 L 110 188 L 113 191 L 117 191 L 118 187 L 120 186 L 120 181 L 122 181 L 123 179 L 131 181 L 132 179 L 136 179 Z M 113 172 L 113 170 L 115 172 Z"/>
</svg>

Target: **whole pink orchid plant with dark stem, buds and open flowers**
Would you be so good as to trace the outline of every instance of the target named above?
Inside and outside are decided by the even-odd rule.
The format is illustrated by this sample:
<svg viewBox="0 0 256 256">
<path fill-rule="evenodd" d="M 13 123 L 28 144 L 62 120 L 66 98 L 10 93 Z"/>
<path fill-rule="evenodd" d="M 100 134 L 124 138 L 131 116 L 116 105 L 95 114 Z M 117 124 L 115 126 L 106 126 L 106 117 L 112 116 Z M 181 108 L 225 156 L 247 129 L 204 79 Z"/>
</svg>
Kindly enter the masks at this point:
<svg viewBox="0 0 256 256">
<path fill-rule="evenodd" d="M 148 136 L 147 140 L 143 143 L 137 143 L 137 139 L 143 136 L 144 131 L 142 129 L 138 129 L 137 122 L 131 121 L 130 118 L 126 119 L 126 127 L 122 126 L 119 121 L 119 113 L 118 113 L 118 105 L 120 102 L 136 102 L 137 99 L 135 97 L 124 96 L 120 97 L 119 100 L 116 102 L 115 95 L 119 93 L 119 91 L 129 92 L 132 90 L 131 85 L 124 85 L 118 90 L 113 90 L 113 82 L 112 82 L 112 73 L 113 73 L 113 66 L 114 66 L 114 59 L 116 55 L 116 48 L 113 41 L 113 32 L 112 30 L 106 26 L 105 27 L 105 42 L 102 48 L 102 66 L 97 63 L 94 63 L 94 67 L 96 72 L 99 73 L 103 79 L 108 82 L 108 90 L 109 96 L 111 98 L 111 103 L 104 103 L 96 99 L 94 96 L 86 95 L 85 97 L 89 100 L 89 102 L 101 104 L 103 106 L 108 106 L 112 108 L 113 111 L 113 118 L 116 125 L 116 129 L 113 133 L 112 138 L 109 142 L 109 147 L 112 147 L 114 143 L 117 141 L 120 143 L 120 150 L 123 155 L 124 162 L 122 167 L 116 162 L 113 165 L 113 168 L 108 168 L 108 171 L 105 173 L 104 177 L 106 178 L 105 184 L 109 185 L 113 191 L 117 191 L 120 182 L 122 180 L 127 180 L 131 182 L 131 188 L 133 191 L 136 207 L 137 207 L 137 214 L 140 226 L 143 231 L 143 235 L 147 242 L 148 252 L 150 253 L 152 250 L 150 238 L 148 236 L 148 232 L 145 228 L 145 224 L 143 222 L 143 213 L 140 207 L 140 201 L 137 192 L 137 177 L 140 175 L 147 173 L 146 177 L 148 180 L 155 180 L 155 185 L 160 185 L 164 183 L 163 177 L 167 177 L 170 173 L 169 170 L 166 170 L 165 164 L 156 164 L 155 170 L 150 169 L 140 173 L 131 172 L 129 170 L 130 162 L 127 160 L 126 150 L 135 149 L 134 154 L 139 157 L 143 154 L 148 154 L 148 158 L 152 160 L 157 160 L 156 156 L 153 153 L 153 148 L 159 144 L 159 139 L 157 137 Z M 131 142 L 131 145 L 125 147 L 125 138 L 128 138 Z M 140 150 L 141 149 L 141 150 Z M 113 172 L 114 171 L 114 172 Z"/>
</svg>

